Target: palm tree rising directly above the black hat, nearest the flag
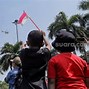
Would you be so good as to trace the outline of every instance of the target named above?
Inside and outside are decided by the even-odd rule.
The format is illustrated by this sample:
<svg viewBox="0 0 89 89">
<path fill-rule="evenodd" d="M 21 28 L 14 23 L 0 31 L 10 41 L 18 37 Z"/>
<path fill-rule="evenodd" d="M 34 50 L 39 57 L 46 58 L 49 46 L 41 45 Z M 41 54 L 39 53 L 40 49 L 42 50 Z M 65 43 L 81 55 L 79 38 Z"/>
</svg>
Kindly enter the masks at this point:
<svg viewBox="0 0 89 89">
<path fill-rule="evenodd" d="M 53 39 L 57 30 L 68 28 L 67 16 L 64 12 L 60 12 L 53 23 L 50 24 L 47 30 L 49 30 L 49 38 Z"/>
</svg>

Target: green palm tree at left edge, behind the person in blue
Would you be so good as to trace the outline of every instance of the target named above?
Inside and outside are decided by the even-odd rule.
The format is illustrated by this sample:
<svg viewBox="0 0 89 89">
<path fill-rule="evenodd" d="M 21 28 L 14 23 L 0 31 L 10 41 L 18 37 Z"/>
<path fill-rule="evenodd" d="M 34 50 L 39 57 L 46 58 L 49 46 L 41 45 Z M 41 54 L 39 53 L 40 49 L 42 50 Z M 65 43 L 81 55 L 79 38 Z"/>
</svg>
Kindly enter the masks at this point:
<svg viewBox="0 0 89 89">
<path fill-rule="evenodd" d="M 5 43 L 1 49 L 1 58 L 0 58 L 0 71 L 1 73 L 7 71 L 10 66 L 10 60 L 18 55 L 21 42 L 16 43 L 15 45 Z"/>
</svg>

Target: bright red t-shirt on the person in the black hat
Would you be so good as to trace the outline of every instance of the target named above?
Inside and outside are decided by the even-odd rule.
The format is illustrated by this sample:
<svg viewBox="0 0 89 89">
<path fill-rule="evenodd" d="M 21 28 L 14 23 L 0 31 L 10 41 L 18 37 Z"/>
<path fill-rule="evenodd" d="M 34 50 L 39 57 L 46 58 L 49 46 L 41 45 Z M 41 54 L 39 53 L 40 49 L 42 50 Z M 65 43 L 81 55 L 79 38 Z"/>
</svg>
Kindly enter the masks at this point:
<svg viewBox="0 0 89 89">
<path fill-rule="evenodd" d="M 48 78 L 56 79 L 55 89 L 87 89 L 86 67 L 87 63 L 75 54 L 61 53 L 49 60 Z"/>
</svg>

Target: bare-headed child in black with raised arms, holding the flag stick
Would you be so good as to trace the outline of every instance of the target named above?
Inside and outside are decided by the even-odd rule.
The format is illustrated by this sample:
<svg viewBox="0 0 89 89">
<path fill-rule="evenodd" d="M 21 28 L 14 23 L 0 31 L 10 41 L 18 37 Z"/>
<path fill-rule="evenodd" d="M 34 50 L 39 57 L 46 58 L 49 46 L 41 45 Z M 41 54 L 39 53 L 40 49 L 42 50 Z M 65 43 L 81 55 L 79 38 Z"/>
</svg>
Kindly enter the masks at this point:
<svg viewBox="0 0 89 89">
<path fill-rule="evenodd" d="M 22 49 L 20 52 L 23 75 L 21 89 L 46 89 L 45 70 L 51 57 L 51 46 L 44 36 L 43 31 L 31 31 L 27 37 L 29 48 Z M 46 47 L 43 47 L 44 44 Z"/>
</svg>

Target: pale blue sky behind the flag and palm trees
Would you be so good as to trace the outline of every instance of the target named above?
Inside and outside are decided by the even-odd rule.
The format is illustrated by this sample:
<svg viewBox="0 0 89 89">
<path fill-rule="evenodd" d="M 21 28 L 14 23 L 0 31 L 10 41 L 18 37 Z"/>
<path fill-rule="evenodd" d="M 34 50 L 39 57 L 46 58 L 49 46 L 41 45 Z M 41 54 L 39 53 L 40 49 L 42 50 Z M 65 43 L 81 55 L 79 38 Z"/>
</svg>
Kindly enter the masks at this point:
<svg viewBox="0 0 89 89">
<path fill-rule="evenodd" d="M 84 13 L 78 9 L 80 1 L 82 0 L 0 0 L 0 48 L 6 42 L 17 42 L 16 26 L 12 22 L 19 19 L 23 10 L 48 34 L 47 28 L 59 12 L 63 11 L 68 17 Z M 27 34 L 34 29 L 37 28 L 30 20 L 23 26 L 18 25 L 19 40 L 26 42 Z M 2 79 L 0 75 L 0 80 Z"/>
</svg>

